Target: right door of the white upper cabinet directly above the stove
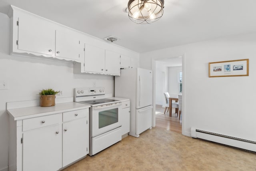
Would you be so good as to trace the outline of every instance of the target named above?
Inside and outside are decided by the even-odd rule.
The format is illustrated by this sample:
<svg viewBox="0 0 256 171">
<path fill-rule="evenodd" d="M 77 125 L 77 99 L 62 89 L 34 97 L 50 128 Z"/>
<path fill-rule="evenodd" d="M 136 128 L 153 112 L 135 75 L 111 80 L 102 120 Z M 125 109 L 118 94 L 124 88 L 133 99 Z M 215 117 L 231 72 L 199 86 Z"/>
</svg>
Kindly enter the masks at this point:
<svg viewBox="0 0 256 171">
<path fill-rule="evenodd" d="M 120 54 L 105 51 L 105 73 L 120 76 Z"/>
</svg>

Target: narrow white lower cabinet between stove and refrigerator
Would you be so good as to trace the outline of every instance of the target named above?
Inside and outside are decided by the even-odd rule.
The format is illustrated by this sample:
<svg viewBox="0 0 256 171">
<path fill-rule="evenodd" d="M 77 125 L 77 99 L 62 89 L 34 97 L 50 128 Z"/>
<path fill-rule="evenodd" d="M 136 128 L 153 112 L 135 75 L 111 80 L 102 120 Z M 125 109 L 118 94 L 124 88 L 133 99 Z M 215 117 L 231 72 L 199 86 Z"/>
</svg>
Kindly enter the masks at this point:
<svg viewBox="0 0 256 171">
<path fill-rule="evenodd" d="M 122 102 L 122 135 L 130 132 L 130 101 Z"/>
</svg>

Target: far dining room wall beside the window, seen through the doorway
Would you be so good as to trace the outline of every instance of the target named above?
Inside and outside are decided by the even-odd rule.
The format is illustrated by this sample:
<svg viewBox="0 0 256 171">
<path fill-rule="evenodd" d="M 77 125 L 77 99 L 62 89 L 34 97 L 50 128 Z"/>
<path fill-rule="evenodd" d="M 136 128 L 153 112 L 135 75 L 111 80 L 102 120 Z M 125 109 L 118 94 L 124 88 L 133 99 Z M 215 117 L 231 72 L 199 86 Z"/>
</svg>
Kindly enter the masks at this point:
<svg viewBox="0 0 256 171">
<path fill-rule="evenodd" d="M 168 67 L 169 69 L 169 94 L 180 93 L 179 72 L 182 72 L 182 66 Z"/>
</svg>

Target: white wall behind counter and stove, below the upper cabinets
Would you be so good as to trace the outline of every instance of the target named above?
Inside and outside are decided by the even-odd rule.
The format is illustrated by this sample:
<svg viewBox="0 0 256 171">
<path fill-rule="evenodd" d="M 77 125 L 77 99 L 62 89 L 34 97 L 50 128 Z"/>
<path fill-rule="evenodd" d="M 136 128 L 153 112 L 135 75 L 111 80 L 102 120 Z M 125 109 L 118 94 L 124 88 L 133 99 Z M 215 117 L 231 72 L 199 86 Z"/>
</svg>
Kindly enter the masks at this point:
<svg viewBox="0 0 256 171">
<path fill-rule="evenodd" d="M 10 56 L 9 18 L 0 13 L 0 21 L 0 80 L 8 82 L 8 89 L 0 90 L 0 171 L 5 171 L 8 169 L 9 143 L 6 102 L 39 99 L 37 95 L 39 91 L 48 87 L 62 90 L 63 96 L 60 97 L 74 97 L 75 87 L 92 87 L 93 82 L 96 82 L 96 86 L 104 86 L 106 93 L 114 94 L 114 77 L 100 74 L 73 74 L 72 62 L 63 60 Z M 119 50 L 122 54 L 128 52 L 118 46 L 112 50 Z M 139 56 L 133 52 L 129 53 L 133 57 Z"/>
</svg>

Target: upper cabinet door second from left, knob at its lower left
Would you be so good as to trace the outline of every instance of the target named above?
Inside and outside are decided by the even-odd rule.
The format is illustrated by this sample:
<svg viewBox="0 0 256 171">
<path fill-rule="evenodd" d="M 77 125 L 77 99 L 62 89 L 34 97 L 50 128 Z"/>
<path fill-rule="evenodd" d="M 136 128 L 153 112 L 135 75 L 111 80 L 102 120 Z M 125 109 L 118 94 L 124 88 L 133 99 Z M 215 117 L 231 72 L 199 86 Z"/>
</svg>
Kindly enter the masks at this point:
<svg viewBox="0 0 256 171">
<path fill-rule="evenodd" d="M 80 60 L 80 49 L 84 49 L 80 45 L 79 36 L 72 30 L 56 30 L 56 52 L 55 56 L 71 59 Z"/>
</svg>

